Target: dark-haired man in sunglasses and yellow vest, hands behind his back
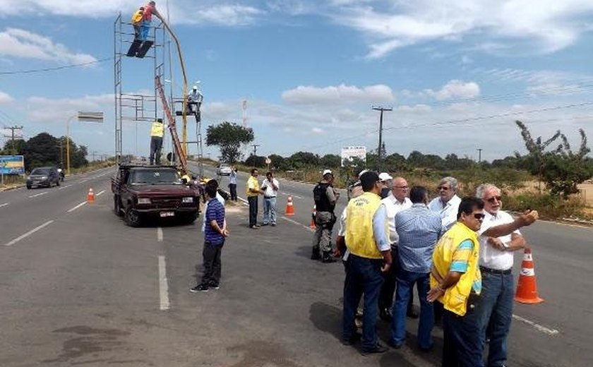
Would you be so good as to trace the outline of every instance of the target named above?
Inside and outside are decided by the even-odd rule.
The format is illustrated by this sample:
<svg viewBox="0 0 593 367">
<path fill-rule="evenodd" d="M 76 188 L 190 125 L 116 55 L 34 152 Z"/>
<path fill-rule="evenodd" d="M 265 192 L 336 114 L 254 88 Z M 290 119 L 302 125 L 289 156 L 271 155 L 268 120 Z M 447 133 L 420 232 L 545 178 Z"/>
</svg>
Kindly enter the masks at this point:
<svg viewBox="0 0 593 367">
<path fill-rule="evenodd" d="M 436 244 L 429 302 L 443 303 L 443 367 L 483 367 L 477 302 L 481 291 L 477 231 L 484 220 L 484 201 L 467 197 L 457 222 Z"/>
</svg>

